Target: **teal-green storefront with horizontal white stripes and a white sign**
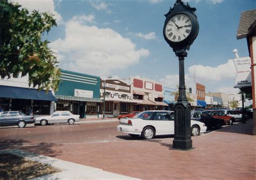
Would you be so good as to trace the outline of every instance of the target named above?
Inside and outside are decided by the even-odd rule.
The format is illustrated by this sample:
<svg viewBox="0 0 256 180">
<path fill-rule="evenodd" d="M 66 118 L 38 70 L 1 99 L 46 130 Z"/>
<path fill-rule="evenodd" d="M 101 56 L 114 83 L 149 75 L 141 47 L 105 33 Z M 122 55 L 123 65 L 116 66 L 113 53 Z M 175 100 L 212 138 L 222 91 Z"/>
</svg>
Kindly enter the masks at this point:
<svg viewBox="0 0 256 180">
<path fill-rule="evenodd" d="M 56 110 L 69 110 L 81 118 L 98 117 L 102 102 L 99 99 L 100 78 L 66 70 L 61 72 L 62 82 L 56 92 Z"/>
</svg>

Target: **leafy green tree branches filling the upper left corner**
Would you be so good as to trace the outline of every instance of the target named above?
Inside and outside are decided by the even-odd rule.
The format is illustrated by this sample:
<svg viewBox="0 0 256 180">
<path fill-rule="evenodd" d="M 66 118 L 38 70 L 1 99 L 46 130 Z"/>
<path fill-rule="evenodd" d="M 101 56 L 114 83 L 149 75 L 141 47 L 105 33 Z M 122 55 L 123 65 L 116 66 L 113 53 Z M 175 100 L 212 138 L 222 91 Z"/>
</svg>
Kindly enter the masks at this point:
<svg viewBox="0 0 256 180">
<path fill-rule="evenodd" d="M 57 26 L 53 15 L 0 1 L 0 75 L 15 78 L 28 74 L 29 86 L 46 92 L 57 91 L 60 82 L 58 61 L 41 36 Z"/>
</svg>

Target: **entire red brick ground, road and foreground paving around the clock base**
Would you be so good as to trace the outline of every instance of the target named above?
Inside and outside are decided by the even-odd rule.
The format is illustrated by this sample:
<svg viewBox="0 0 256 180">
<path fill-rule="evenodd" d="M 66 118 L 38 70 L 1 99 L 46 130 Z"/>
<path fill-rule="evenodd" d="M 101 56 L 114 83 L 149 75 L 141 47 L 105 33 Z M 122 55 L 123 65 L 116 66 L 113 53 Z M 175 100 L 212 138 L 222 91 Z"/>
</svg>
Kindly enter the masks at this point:
<svg viewBox="0 0 256 180">
<path fill-rule="evenodd" d="M 255 179 L 252 121 L 192 137 L 191 151 L 171 150 L 173 136 L 132 139 L 118 133 L 117 124 L 1 128 L 0 149 L 22 149 L 143 179 Z"/>
</svg>

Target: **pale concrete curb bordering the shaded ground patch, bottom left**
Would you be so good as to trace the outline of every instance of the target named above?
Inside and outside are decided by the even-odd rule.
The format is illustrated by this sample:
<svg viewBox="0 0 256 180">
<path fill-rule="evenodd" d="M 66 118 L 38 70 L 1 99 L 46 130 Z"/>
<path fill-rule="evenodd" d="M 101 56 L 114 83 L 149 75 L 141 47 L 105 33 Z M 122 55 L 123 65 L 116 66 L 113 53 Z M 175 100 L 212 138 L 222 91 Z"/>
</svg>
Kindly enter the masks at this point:
<svg viewBox="0 0 256 180">
<path fill-rule="evenodd" d="M 93 168 L 86 165 L 58 160 L 53 157 L 28 153 L 19 149 L 8 149 L 0 151 L 0 154 L 6 153 L 21 156 L 31 161 L 49 164 L 56 169 L 62 170 L 62 172 L 37 177 L 34 179 L 138 179 L 129 176 L 114 174 L 112 172 L 103 171 L 102 169 Z"/>
</svg>

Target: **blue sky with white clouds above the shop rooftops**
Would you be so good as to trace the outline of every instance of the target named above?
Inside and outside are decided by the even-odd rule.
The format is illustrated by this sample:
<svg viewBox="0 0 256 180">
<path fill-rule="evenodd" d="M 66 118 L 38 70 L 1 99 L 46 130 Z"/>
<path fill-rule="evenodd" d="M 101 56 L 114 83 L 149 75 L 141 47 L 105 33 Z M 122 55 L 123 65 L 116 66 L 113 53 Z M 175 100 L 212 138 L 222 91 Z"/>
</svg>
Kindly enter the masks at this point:
<svg viewBox="0 0 256 180">
<path fill-rule="evenodd" d="M 29 10 L 55 13 L 58 27 L 46 37 L 59 66 L 102 78 L 139 75 L 169 87 L 178 85 L 178 59 L 163 37 L 165 13 L 174 0 L 12 0 Z M 186 82 L 206 91 L 232 93 L 233 49 L 248 56 L 246 39 L 236 33 L 242 11 L 255 0 L 190 0 L 197 8 L 199 34 L 185 59 Z M 229 60 L 229 61 L 228 61 Z M 194 73 L 194 71 L 196 73 Z"/>
</svg>

